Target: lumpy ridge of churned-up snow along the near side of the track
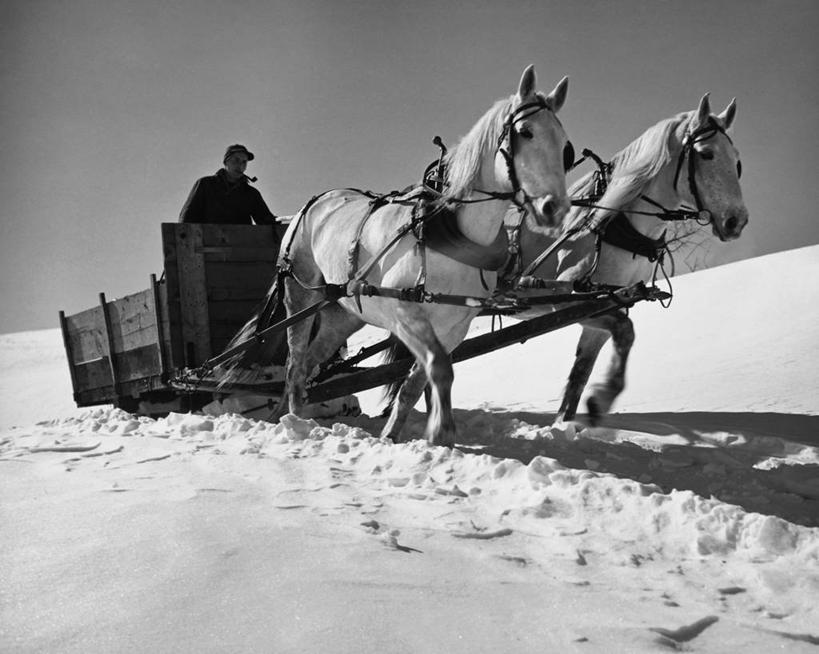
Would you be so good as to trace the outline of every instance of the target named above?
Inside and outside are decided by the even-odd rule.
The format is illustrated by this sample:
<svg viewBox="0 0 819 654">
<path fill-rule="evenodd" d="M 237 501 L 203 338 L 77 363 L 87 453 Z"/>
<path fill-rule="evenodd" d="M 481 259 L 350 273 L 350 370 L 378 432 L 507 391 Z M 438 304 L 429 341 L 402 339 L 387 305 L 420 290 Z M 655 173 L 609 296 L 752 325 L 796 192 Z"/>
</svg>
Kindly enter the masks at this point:
<svg viewBox="0 0 819 654">
<path fill-rule="evenodd" d="M 652 484 L 567 468 L 540 455 L 524 464 L 487 454 L 464 454 L 458 449 L 431 448 L 420 440 L 393 444 L 360 428 L 341 423 L 322 426 L 292 415 L 270 424 L 237 415 L 212 418 L 172 413 L 152 420 L 119 409 L 97 409 L 79 418 L 56 421 L 49 431 L 70 434 L 72 439 L 82 434 L 80 440 L 70 442 L 86 446 L 94 444 L 92 434 L 103 445 L 108 436 L 169 439 L 178 448 L 174 456 L 210 450 L 210 455 L 315 457 L 319 465 L 334 462 L 344 467 L 357 484 L 373 485 L 380 491 L 400 489 L 398 492 L 417 494 L 418 500 L 428 499 L 430 493 L 480 496 L 480 502 L 486 504 L 482 510 L 504 515 L 508 522 L 526 518 L 531 523 L 559 516 L 577 520 L 587 529 L 605 531 L 609 537 L 636 540 L 652 553 L 694 556 L 736 552 L 743 558 L 768 560 L 788 556 L 800 564 L 819 566 L 819 532 L 815 529 L 746 514 L 688 491 L 663 495 Z M 16 438 L 15 444 L 23 452 L 48 451 L 49 441 L 50 436 L 32 435 Z M 70 446 L 63 448 L 70 451 Z M 115 460 L 114 453 L 108 456 Z M 607 514 L 617 517 L 607 520 Z"/>
</svg>

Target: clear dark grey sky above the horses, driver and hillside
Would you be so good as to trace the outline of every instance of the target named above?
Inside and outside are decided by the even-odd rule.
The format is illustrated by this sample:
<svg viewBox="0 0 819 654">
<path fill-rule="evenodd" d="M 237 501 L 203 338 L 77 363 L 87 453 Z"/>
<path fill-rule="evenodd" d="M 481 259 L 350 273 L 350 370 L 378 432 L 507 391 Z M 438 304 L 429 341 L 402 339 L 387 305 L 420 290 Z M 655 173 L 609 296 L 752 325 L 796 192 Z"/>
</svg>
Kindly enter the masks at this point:
<svg viewBox="0 0 819 654">
<path fill-rule="evenodd" d="M 146 288 L 226 145 L 277 214 L 403 188 L 530 63 L 570 76 L 561 119 L 603 156 L 736 97 L 751 222 L 710 260 L 815 244 L 817 33 L 815 0 L 4 2 L 0 332 Z"/>
</svg>

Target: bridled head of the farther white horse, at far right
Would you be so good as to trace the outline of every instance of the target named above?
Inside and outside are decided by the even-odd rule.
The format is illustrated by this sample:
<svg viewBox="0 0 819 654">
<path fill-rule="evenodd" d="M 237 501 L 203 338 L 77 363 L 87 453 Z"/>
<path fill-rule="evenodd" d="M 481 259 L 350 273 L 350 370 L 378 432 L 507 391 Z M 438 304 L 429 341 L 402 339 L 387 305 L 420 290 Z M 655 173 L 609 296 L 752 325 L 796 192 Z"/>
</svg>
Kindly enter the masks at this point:
<svg viewBox="0 0 819 654">
<path fill-rule="evenodd" d="M 697 211 L 707 212 L 703 215 L 722 241 L 739 238 L 748 223 L 739 186 L 742 164 L 726 131 L 735 117 L 736 100 L 715 116 L 706 93 L 689 123 L 674 178 L 680 195 L 688 194 Z"/>
</svg>

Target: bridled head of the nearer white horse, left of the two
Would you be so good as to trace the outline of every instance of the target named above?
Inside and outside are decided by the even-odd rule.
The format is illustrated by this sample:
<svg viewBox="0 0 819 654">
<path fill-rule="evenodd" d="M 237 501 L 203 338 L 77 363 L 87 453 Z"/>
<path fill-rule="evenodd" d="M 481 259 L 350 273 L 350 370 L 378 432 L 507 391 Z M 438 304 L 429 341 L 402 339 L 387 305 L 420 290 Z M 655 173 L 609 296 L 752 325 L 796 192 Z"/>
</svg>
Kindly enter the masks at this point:
<svg viewBox="0 0 819 654">
<path fill-rule="evenodd" d="M 495 179 L 545 226 L 560 223 L 569 209 L 566 172 L 574 163 L 574 149 L 557 118 L 568 84 L 564 77 L 544 96 L 535 90 L 534 66 L 526 68 L 495 153 Z"/>
</svg>

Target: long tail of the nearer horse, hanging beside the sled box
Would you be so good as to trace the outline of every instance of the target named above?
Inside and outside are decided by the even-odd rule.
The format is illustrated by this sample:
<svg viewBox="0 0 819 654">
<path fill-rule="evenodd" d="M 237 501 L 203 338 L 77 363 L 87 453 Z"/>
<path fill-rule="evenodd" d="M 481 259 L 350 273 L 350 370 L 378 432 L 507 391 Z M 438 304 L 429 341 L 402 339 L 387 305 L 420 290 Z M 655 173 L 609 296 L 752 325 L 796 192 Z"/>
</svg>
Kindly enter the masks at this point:
<svg viewBox="0 0 819 654">
<path fill-rule="evenodd" d="M 225 352 L 250 341 L 260 331 L 287 317 L 284 306 L 284 275 L 277 271 L 265 299 L 253 311 L 245 325 L 230 340 Z M 287 359 L 287 330 L 282 329 L 259 339 L 250 347 L 238 351 L 213 370 L 219 380 L 217 390 L 238 383 L 253 383 L 265 372 L 265 366 L 284 365 Z"/>
</svg>

